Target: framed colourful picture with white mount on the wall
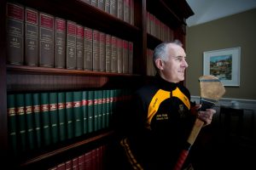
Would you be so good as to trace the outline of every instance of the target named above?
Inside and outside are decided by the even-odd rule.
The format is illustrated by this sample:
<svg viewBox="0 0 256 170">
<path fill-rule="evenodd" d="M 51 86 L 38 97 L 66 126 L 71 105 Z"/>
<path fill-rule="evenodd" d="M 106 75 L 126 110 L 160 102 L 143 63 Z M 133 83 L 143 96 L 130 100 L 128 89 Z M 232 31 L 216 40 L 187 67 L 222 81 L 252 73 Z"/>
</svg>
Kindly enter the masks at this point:
<svg viewBox="0 0 256 170">
<path fill-rule="evenodd" d="M 204 52 L 204 75 L 212 75 L 224 86 L 240 85 L 241 48 L 225 48 Z"/>
</svg>

